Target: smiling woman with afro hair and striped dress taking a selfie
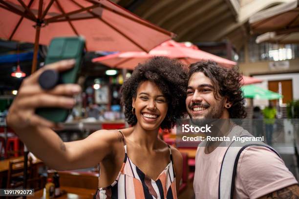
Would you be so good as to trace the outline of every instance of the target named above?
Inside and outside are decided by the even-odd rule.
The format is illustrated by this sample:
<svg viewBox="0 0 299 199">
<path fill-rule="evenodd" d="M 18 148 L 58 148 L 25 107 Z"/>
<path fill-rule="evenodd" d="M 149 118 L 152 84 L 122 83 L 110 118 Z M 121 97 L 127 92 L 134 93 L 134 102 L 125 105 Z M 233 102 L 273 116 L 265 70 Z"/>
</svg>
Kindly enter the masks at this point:
<svg viewBox="0 0 299 199">
<path fill-rule="evenodd" d="M 180 152 L 158 138 L 186 112 L 187 75 L 181 62 L 154 57 L 139 63 L 122 86 L 125 118 L 131 127 L 99 130 L 78 141 L 63 142 L 56 124 L 35 114 L 38 107 L 72 108 L 76 84 L 44 91 L 38 84 L 46 69 L 64 71 L 74 61 L 49 64 L 26 78 L 14 100 L 7 123 L 31 152 L 56 170 L 100 165 L 97 199 L 177 198 L 182 176 Z M 52 155 L 49 155 L 52 154 Z"/>
</svg>

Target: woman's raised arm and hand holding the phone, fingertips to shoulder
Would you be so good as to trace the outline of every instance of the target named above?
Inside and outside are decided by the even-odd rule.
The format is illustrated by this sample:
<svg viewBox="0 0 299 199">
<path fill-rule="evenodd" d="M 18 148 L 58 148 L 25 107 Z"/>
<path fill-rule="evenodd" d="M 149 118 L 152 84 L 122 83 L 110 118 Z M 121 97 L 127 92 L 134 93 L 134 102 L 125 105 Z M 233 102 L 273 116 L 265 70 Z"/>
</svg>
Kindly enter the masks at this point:
<svg viewBox="0 0 299 199">
<path fill-rule="evenodd" d="M 6 118 L 28 149 L 57 170 L 94 166 L 112 152 L 112 143 L 118 139 L 117 132 L 101 130 L 80 141 L 63 142 L 51 129 L 57 125 L 35 114 L 38 107 L 72 108 L 75 105 L 73 95 L 81 91 L 79 85 L 60 84 L 46 91 L 38 83 L 44 70 L 64 71 L 74 63 L 64 60 L 49 64 L 23 80 Z"/>
</svg>

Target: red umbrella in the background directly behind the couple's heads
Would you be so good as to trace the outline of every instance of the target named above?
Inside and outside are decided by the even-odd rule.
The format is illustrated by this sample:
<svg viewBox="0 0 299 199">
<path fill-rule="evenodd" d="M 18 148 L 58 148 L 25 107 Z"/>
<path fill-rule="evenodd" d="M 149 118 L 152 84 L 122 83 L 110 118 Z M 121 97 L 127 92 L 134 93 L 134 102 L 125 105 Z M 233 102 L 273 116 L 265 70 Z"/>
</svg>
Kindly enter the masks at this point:
<svg viewBox="0 0 299 199">
<path fill-rule="evenodd" d="M 194 63 L 199 60 L 214 60 L 224 67 L 232 67 L 236 62 L 227 60 L 205 51 L 199 50 L 196 46 L 187 47 L 184 43 L 174 40 L 165 41 L 161 45 L 153 48 L 149 53 L 146 52 L 124 52 L 95 58 L 92 61 L 101 62 L 113 68 L 126 68 L 133 70 L 138 63 L 144 62 L 153 56 L 167 56 L 179 59 L 186 64 Z"/>
</svg>

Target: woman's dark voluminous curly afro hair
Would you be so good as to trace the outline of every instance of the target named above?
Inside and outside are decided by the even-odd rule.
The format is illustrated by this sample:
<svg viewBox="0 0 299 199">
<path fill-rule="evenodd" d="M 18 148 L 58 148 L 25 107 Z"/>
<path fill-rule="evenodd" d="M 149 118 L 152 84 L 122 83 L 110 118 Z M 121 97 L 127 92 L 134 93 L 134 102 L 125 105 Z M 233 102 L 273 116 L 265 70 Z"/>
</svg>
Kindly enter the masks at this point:
<svg viewBox="0 0 299 199">
<path fill-rule="evenodd" d="M 171 129 L 176 118 L 180 118 L 186 113 L 186 90 L 187 73 L 184 65 L 178 61 L 167 57 L 154 57 L 144 63 L 139 63 L 134 69 L 122 88 L 122 105 L 125 107 L 125 118 L 128 124 L 137 123 L 136 116 L 132 113 L 132 99 L 137 97 L 137 89 L 144 81 L 154 82 L 166 97 L 168 111 L 165 119 L 161 123 L 162 129 Z"/>
</svg>

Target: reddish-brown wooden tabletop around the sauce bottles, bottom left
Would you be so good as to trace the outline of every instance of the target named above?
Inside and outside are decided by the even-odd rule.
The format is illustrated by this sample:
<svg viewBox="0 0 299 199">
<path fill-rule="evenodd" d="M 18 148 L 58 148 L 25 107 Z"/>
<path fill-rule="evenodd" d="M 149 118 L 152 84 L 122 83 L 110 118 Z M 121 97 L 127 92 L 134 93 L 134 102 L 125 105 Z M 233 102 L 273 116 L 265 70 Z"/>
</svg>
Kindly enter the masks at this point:
<svg viewBox="0 0 299 199">
<path fill-rule="evenodd" d="M 96 189 L 85 189 L 77 187 L 60 187 L 62 191 L 66 191 L 66 194 L 56 198 L 56 199 L 93 199 L 93 195 L 96 192 Z M 29 198 L 29 197 L 28 197 Z M 36 191 L 34 193 L 34 198 L 44 199 L 43 189 Z"/>
</svg>

